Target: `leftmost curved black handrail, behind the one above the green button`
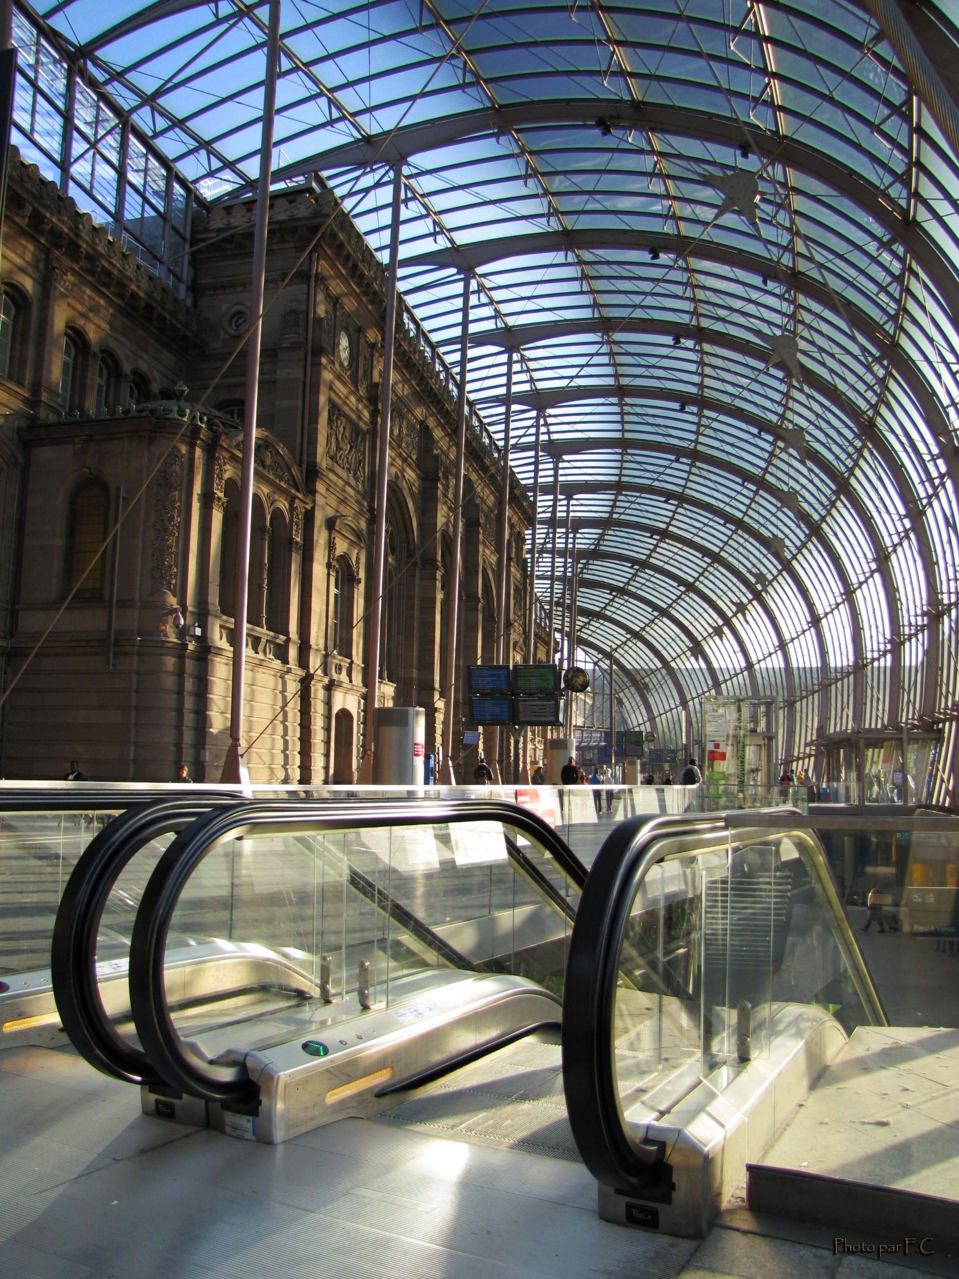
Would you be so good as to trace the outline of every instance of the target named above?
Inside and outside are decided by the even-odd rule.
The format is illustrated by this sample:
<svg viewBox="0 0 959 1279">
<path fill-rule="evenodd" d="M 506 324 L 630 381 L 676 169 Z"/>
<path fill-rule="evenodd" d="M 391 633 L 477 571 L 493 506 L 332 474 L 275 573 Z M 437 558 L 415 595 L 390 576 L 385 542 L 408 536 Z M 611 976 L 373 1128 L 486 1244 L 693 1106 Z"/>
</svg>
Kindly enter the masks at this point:
<svg viewBox="0 0 959 1279">
<path fill-rule="evenodd" d="M 54 999 L 74 1048 L 104 1074 L 129 1083 L 161 1082 L 146 1053 L 113 1026 L 100 998 L 97 935 L 110 893 L 124 867 L 152 839 L 183 830 L 225 802 L 201 793 L 130 808 L 90 842 L 66 881 L 50 950 Z"/>
</svg>

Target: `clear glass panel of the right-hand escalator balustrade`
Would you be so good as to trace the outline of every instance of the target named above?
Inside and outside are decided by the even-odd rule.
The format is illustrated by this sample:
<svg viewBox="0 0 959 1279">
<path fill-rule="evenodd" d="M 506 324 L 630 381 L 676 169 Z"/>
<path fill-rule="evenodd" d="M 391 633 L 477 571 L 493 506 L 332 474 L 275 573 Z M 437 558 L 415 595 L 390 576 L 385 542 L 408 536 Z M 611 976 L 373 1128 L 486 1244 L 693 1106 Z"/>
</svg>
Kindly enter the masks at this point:
<svg viewBox="0 0 959 1279">
<path fill-rule="evenodd" d="M 666 856 L 635 884 L 621 938 L 623 1109 L 669 1109 L 717 1071 L 768 1058 L 802 1009 L 846 1032 L 871 1023 L 853 952 L 809 834 L 724 834 Z"/>
</svg>

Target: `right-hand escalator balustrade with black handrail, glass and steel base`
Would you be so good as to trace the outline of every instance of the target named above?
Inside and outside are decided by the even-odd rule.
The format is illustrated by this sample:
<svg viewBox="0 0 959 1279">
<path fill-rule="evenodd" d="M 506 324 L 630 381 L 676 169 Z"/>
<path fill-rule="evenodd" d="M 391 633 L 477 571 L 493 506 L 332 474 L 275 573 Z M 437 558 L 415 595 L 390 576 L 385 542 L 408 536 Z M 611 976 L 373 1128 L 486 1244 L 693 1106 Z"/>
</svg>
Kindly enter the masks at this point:
<svg viewBox="0 0 959 1279">
<path fill-rule="evenodd" d="M 848 1036 L 886 1024 L 816 836 L 735 816 L 623 822 L 582 895 L 563 1078 L 610 1221 L 705 1234 Z"/>
</svg>

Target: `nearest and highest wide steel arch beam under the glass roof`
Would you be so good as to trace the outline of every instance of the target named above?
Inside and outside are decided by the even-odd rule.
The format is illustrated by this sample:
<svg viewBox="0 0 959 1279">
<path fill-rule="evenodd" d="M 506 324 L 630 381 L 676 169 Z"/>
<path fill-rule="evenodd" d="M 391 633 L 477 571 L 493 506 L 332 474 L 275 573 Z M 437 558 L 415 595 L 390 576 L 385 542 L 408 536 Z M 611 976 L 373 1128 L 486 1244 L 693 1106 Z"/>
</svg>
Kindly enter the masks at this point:
<svg viewBox="0 0 959 1279">
<path fill-rule="evenodd" d="M 315 170 L 364 166 L 373 161 L 398 164 L 422 151 L 448 146 L 477 134 L 503 133 L 511 129 L 543 124 L 596 125 L 602 116 L 610 125 L 624 132 L 670 133 L 699 138 L 720 146 L 739 150 L 748 146 L 765 161 L 776 161 L 785 169 L 809 174 L 826 187 L 848 196 L 904 248 L 917 262 L 922 262 L 930 278 L 936 280 L 944 295 L 950 298 L 954 315 L 959 315 L 959 280 L 947 260 L 932 240 L 889 202 L 877 187 L 864 183 L 852 169 L 838 164 L 815 147 L 793 137 L 771 133 L 742 120 L 722 119 L 708 111 L 688 107 L 656 105 L 651 102 L 602 102 L 600 98 L 565 102 L 518 102 L 503 107 L 481 107 L 442 120 L 402 125 L 391 132 L 378 133 L 363 141 L 348 142 L 340 147 L 298 160 L 276 170 L 274 180 L 283 182 Z M 520 237 L 522 238 L 522 237 Z"/>
</svg>

